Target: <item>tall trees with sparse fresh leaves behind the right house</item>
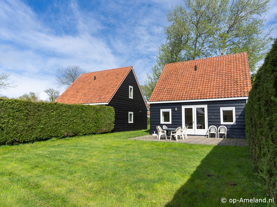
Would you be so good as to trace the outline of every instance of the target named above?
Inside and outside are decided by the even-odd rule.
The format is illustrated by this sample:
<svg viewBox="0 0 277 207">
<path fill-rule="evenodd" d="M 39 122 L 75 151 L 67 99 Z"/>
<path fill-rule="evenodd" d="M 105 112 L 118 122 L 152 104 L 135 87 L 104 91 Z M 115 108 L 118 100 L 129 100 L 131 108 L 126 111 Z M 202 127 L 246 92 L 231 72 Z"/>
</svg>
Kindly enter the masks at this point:
<svg viewBox="0 0 277 207">
<path fill-rule="evenodd" d="M 185 0 L 184 6 L 176 5 L 167 15 L 166 41 L 142 86 L 147 99 L 165 64 L 247 51 L 255 73 L 272 41 L 262 16 L 269 0 Z"/>
</svg>

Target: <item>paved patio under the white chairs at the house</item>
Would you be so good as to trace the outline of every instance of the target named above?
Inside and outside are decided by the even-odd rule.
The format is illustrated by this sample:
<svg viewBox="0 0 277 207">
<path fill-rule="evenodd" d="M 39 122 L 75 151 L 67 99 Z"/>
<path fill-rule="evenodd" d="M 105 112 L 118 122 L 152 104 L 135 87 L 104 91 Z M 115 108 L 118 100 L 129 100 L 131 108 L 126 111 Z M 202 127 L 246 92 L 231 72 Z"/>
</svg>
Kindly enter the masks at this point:
<svg viewBox="0 0 277 207">
<path fill-rule="evenodd" d="M 130 139 L 138 139 L 144 141 L 166 141 L 166 142 L 177 142 L 173 139 L 171 141 L 169 139 L 164 139 L 163 137 L 160 140 L 156 139 L 157 136 L 153 135 L 144 135 L 141 137 L 133 137 Z M 237 145 L 237 146 L 247 146 L 246 139 L 237 139 L 237 138 L 208 138 L 206 136 L 190 136 L 188 135 L 188 139 L 180 140 L 178 139 L 178 143 L 190 143 L 190 144 L 205 144 L 205 145 Z"/>
</svg>

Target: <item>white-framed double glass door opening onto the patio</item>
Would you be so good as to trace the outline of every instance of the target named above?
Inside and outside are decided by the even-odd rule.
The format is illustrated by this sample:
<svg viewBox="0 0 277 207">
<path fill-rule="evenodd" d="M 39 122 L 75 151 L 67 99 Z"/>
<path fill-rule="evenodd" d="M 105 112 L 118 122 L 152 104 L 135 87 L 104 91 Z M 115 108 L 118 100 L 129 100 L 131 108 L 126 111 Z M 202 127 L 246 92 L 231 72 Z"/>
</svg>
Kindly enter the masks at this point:
<svg viewBox="0 0 277 207">
<path fill-rule="evenodd" d="M 206 135 L 208 129 L 207 105 L 182 106 L 182 125 L 188 125 L 188 135 Z"/>
</svg>

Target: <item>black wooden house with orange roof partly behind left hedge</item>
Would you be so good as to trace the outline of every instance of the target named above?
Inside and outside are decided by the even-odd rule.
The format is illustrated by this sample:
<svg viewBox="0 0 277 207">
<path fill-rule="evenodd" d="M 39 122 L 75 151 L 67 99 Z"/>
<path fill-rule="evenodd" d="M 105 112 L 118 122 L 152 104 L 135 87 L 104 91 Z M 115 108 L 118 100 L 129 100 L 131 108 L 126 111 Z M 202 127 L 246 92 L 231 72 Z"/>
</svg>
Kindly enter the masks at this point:
<svg viewBox="0 0 277 207">
<path fill-rule="evenodd" d="M 147 105 L 132 66 L 81 74 L 55 102 L 112 106 L 113 131 L 147 129 Z"/>
</svg>

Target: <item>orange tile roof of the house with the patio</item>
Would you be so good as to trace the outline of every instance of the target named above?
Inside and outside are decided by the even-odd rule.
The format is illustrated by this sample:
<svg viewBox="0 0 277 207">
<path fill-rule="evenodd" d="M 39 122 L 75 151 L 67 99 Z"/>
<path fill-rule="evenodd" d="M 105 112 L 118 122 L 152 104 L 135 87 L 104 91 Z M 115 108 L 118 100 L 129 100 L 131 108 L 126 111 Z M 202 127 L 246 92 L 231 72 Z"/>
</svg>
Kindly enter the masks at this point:
<svg viewBox="0 0 277 207">
<path fill-rule="evenodd" d="M 244 52 L 166 64 L 149 102 L 246 97 L 250 89 Z"/>
</svg>

